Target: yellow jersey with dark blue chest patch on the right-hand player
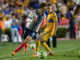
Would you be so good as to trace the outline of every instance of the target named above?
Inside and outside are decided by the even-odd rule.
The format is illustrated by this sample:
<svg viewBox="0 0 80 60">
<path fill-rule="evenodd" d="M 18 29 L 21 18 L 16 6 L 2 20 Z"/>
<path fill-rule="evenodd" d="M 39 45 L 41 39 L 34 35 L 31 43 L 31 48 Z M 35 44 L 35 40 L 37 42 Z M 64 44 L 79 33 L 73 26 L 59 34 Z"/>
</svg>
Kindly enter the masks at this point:
<svg viewBox="0 0 80 60">
<path fill-rule="evenodd" d="M 56 21 L 58 21 L 58 18 L 57 18 L 57 15 L 56 15 L 55 12 L 48 14 L 48 16 L 47 16 L 47 26 L 46 26 L 44 31 L 53 32 L 53 30 L 55 29 Z"/>
</svg>

